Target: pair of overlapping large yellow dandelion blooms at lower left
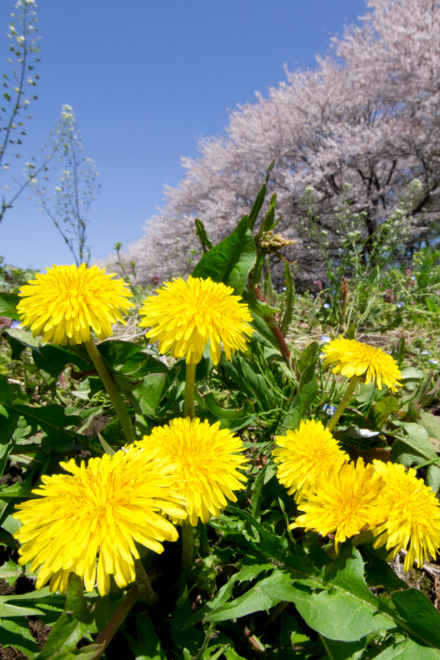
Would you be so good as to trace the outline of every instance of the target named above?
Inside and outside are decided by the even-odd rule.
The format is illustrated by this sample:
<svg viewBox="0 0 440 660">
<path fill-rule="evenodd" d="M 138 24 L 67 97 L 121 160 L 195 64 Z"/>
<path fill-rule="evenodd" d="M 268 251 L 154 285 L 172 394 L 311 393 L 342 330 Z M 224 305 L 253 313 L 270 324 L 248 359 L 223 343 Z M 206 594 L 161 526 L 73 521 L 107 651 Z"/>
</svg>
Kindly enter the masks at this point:
<svg viewBox="0 0 440 660">
<path fill-rule="evenodd" d="M 153 428 L 113 456 L 91 458 L 87 467 L 61 463 L 70 474 L 43 475 L 32 491 L 41 497 L 14 514 L 23 523 L 15 534 L 19 563 L 39 569 L 36 588 L 50 580 L 52 591 L 65 592 L 71 571 L 87 591 L 97 582 L 101 595 L 109 592 L 109 575 L 126 586 L 135 579 L 135 541 L 162 553 L 164 540 L 178 538 L 177 522 L 208 522 L 236 501 L 233 490 L 246 479 L 237 470 L 242 451 L 241 440 L 219 423 L 186 418 Z"/>
</svg>

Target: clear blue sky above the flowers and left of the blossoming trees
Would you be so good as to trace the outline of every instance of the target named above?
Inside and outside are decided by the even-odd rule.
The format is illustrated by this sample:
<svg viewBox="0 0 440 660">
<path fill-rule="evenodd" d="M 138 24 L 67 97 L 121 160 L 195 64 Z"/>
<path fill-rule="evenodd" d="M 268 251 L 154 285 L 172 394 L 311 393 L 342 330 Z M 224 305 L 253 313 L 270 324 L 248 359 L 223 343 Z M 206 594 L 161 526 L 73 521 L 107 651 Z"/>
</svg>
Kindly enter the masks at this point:
<svg viewBox="0 0 440 660">
<path fill-rule="evenodd" d="M 1 0 L 0 74 L 13 8 Z M 102 185 L 91 256 L 107 256 L 116 241 L 139 238 L 163 206 L 162 186 L 183 175 L 180 156 L 197 155 L 197 137 L 223 133 L 228 109 L 284 80 L 284 63 L 314 67 L 331 34 L 365 12 L 364 0 L 40 0 L 39 100 L 21 163 L 38 157 L 62 105 L 71 105 Z M 72 263 L 50 219 L 26 198 L 5 213 L 0 255 L 39 270 Z"/>
</svg>

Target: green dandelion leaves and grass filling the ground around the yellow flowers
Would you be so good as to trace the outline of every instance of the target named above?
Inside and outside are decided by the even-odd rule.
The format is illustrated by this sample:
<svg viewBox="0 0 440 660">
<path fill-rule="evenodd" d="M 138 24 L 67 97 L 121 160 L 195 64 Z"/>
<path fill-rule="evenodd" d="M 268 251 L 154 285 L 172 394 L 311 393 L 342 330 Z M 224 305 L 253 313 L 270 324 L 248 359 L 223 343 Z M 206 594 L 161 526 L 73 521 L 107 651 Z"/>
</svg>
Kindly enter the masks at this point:
<svg viewBox="0 0 440 660">
<path fill-rule="evenodd" d="M 219 245 L 212 244 L 203 223 L 197 222 L 204 254 L 192 272 L 231 286 L 252 313 L 254 333 L 248 350 L 234 355 L 232 362 L 222 356 L 214 366 L 206 347 L 195 373 L 197 417 L 220 421 L 222 428 L 243 439 L 249 458 L 245 490 L 221 516 L 211 518 L 208 525 L 199 523 L 195 562 L 182 575 L 181 540 L 166 544 L 162 555 L 139 546 L 144 570 L 157 580 L 153 586 L 160 595 L 158 603 L 137 601 L 137 587 L 124 593 L 115 584 L 105 597 L 95 591 L 85 595 L 80 578 L 72 573 L 67 598 L 47 587 L 33 591 L 32 586 L 28 593 L 0 597 L 3 646 L 14 646 L 30 659 L 91 660 L 100 657 L 102 643 L 111 637 L 109 630 L 113 634 L 119 628 L 122 650 L 109 649 L 102 657 L 131 653 L 137 660 L 247 660 L 255 654 L 274 660 L 440 659 L 439 613 L 426 595 L 408 587 L 405 575 L 393 571 L 383 549 L 373 549 L 371 533 L 347 540 L 336 555 L 333 538 L 289 529 L 298 508 L 276 478 L 274 441 L 286 430 L 297 429 L 302 419 L 326 423 L 329 406 L 338 405 L 346 382 L 323 369 L 318 340 L 309 336 L 301 350 L 286 340 L 298 319 L 313 319 L 295 294 L 289 264 L 285 263 L 285 292 L 274 289 L 267 254 L 279 257 L 279 245 L 275 249 L 261 241 L 276 225 L 274 196 L 259 224 L 266 184 L 249 217 L 243 217 Z M 358 250 L 353 268 L 360 270 L 353 272 L 355 284 L 350 282 L 349 291 L 358 291 L 359 297 L 348 300 L 343 319 L 339 303 L 332 303 L 331 325 L 325 330 L 333 334 L 345 327 L 346 336 L 353 338 L 356 325 L 375 325 L 377 309 L 389 303 L 377 302 L 382 294 L 375 267 L 371 278 L 377 285 L 376 303 L 364 306 L 362 248 L 357 242 L 347 243 L 347 250 Z M 430 269 L 434 272 L 432 263 Z M 426 276 L 427 271 L 419 267 Z M 336 267 L 335 292 L 344 273 Z M 135 280 L 132 287 L 140 302 L 142 291 Z M 0 296 L 0 314 L 18 318 L 17 287 L 11 288 Z M 325 320 L 322 312 L 317 317 Z M 36 575 L 29 565 L 15 562 L 17 554 L 10 554 L 17 550 L 12 536 L 19 524 L 12 518 L 14 505 L 33 496 L 41 476 L 59 472 L 60 461 L 111 454 L 126 438 L 84 345 L 44 345 L 30 331 L 17 328 L 5 329 L 2 341 L 0 352 L 10 376 L 0 375 L 0 476 L 17 465 L 22 481 L 0 487 L 0 542 L 9 552 L 0 577 L 17 586 L 17 581 L 34 580 Z M 391 395 L 373 383 L 360 384 L 335 434 L 352 459 L 386 454 L 392 461 L 416 467 L 419 478 L 437 491 L 440 424 L 428 406 L 438 401 L 439 383 L 432 371 L 410 363 L 408 350 L 400 341 L 393 353 L 402 370 L 399 391 Z M 98 351 L 139 437 L 182 415 L 185 360 L 163 358 L 145 340 L 123 337 L 101 342 Z M 41 650 L 27 617 L 52 626 Z"/>
</svg>

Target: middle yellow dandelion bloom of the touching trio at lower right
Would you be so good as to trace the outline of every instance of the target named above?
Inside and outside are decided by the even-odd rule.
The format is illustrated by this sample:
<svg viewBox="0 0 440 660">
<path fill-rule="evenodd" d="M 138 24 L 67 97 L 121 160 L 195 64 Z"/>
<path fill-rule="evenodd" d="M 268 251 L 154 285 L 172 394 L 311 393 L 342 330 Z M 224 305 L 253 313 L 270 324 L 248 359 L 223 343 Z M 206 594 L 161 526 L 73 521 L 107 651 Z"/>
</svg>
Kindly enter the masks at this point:
<svg viewBox="0 0 440 660">
<path fill-rule="evenodd" d="M 319 483 L 305 493 L 300 509 L 305 513 L 289 527 L 305 527 L 322 536 L 335 534 L 336 552 L 347 538 L 377 524 L 375 500 L 382 479 L 373 478 L 374 466 L 362 459 L 344 463 L 322 474 Z"/>
</svg>

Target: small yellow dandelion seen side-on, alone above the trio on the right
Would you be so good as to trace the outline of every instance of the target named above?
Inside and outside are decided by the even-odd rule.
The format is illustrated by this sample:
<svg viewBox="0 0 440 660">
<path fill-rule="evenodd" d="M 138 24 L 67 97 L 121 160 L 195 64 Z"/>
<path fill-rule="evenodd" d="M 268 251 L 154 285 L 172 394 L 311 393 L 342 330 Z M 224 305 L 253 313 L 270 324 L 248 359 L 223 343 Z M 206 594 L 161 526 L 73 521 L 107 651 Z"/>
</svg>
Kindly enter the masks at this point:
<svg viewBox="0 0 440 660">
<path fill-rule="evenodd" d="M 401 387 L 399 366 L 391 355 L 387 355 L 382 349 L 340 336 L 339 339 L 322 347 L 322 351 L 327 353 L 324 366 L 336 363 L 333 373 L 342 373 L 348 378 L 354 375 L 362 376 L 365 383 L 373 380 L 380 390 L 382 383 L 392 392 L 396 392 L 397 387 Z"/>
</svg>

